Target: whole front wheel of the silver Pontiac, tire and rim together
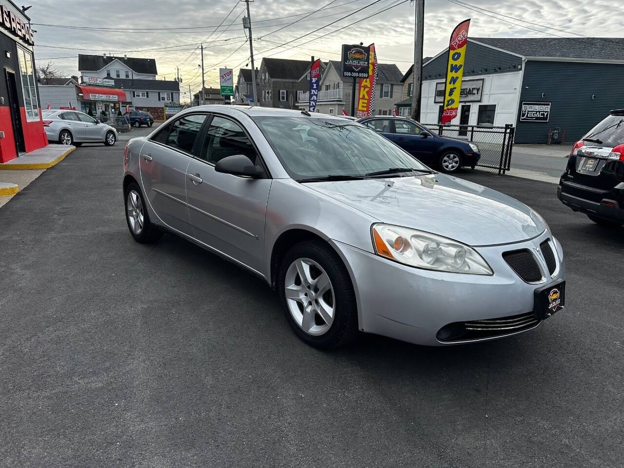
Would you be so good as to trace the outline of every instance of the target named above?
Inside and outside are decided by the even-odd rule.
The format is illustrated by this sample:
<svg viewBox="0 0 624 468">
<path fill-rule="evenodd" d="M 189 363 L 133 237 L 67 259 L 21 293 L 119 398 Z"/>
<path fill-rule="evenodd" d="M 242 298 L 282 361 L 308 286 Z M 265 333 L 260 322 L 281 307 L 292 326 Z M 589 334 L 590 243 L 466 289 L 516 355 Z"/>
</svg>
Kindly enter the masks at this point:
<svg viewBox="0 0 624 468">
<path fill-rule="evenodd" d="M 358 331 L 358 308 L 351 278 L 329 245 L 306 241 L 281 262 L 278 292 L 295 334 L 320 349 L 343 346 Z"/>
</svg>

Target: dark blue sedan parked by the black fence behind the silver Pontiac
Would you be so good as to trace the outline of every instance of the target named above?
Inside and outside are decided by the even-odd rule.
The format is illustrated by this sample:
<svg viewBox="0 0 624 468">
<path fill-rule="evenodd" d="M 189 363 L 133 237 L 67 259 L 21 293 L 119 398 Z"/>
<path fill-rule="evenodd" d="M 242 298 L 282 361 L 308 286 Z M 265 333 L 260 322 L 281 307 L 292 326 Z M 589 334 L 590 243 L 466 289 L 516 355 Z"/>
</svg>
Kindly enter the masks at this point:
<svg viewBox="0 0 624 468">
<path fill-rule="evenodd" d="M 474 143 L 434 135 L 416 120 L 378 115 L 358 119 L 363 125 L 384 135 L 409 154 L 443 172 L 457 172 L 462 166 L 474 168 L 481 154 Z"/>
</svg>

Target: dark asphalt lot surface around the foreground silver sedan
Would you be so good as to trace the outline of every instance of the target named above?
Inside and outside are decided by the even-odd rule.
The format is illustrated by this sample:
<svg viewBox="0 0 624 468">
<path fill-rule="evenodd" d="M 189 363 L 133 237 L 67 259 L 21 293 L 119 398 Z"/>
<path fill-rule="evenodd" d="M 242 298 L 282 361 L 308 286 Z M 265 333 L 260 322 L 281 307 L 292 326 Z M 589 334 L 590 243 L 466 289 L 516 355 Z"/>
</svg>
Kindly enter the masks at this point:
<svg viewBox="0 0 624 468">
<path fill-rule="evenodd" d="M 0 208 L 0 466 L 622 466 L 623 230 L 555 185 L 461 175 L 544 215 L 565 310 L 489 343 L 327 353 L 255 276 L 135 243 L 121 177 L 122 145 L 84 145 Z"/>
</svg>

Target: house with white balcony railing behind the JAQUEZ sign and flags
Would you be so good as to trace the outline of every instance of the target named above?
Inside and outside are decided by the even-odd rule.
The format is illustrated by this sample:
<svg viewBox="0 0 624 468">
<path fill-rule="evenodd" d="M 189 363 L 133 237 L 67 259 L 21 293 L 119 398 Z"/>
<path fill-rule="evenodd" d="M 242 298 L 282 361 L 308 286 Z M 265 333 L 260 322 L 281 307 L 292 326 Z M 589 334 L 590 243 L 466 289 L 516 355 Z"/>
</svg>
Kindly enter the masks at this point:
<svg viewBox="0 0 624 468">
<path fill-rule="evenodd" d="M 395 64 L 378 63 L 374 100 L 375 115 L 392 114 L 394 102 L 402 94 L 402 76 L 403 74 Z M 316 112 L 342 115 L 344 109 L 348 115 L 351 115 L 352 92 L 353 79 L 343 77 L 342 62 L 330 60 L 327 62 L 324 72 L 321 73 Z M 356 80 L 356 99 L 358 94 L 359 80 Z M 308 99 L 308 92 L 301 92 L 297 100 L 298 107 L 309 109 Z"/>
</svg>

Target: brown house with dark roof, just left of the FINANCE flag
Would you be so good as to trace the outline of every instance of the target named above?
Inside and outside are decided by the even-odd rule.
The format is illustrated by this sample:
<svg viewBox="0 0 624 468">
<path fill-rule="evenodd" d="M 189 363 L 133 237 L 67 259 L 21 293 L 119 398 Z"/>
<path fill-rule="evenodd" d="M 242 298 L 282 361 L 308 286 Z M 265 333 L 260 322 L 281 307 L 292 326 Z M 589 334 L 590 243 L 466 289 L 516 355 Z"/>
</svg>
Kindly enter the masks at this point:
<svg viewBox="0 0 624 468">
<path fill-rule="evenodd" d="M 263 107 L 297 109 L 297 94 L 310 89 L 311 61 L 291 59 L 262 59 L 258 71 Z"/>
</svg>

